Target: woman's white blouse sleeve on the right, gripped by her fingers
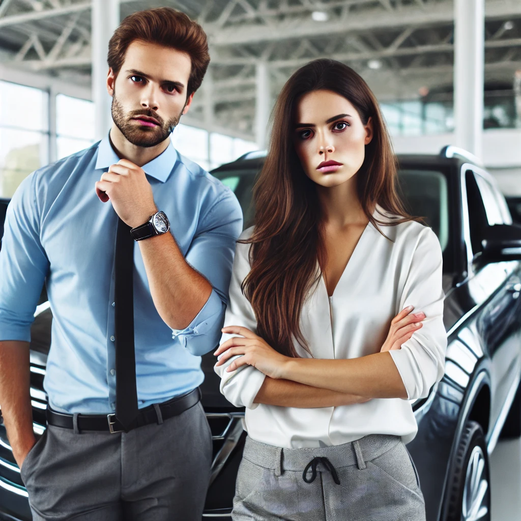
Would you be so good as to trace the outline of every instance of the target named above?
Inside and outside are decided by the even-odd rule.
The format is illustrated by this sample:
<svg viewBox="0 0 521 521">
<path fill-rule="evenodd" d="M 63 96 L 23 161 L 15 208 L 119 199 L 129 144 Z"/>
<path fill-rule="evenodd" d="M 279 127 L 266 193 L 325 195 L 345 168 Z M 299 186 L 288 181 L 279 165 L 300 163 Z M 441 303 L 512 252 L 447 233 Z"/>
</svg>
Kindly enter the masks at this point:
<svg viewBox="0 0 521 521">
<path fill-rule="evenodd" d="M 399 309 L 412 305 L 423 311 L 423 327 L 402 344 L 389 351 L 402 377 L 407 400 L 426 398 L 429 389 L 443 377 L 447 337 L 443 325 L 442 253 L 436 234 L 421 231 Z"/>
</svg>

